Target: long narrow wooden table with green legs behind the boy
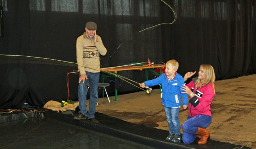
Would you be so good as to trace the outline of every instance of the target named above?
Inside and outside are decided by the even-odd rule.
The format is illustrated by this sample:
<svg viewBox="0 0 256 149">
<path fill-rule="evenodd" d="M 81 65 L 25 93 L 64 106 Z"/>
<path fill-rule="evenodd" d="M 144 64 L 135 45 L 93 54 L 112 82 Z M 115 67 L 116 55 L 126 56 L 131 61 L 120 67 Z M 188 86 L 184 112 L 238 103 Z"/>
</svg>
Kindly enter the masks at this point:
<svg viewBox="0 0 256 149">
<path fill-rule="evenodd" d="M 160 72 L 156 72 L 154 69 L 155 68 L 160 68 Z M 153 64 L 151 66 L 148 65 L 141 65 L 141 66 L 127 66 L 127 67 L 115 67 L 115 68 L 101 68 L 101 72 L 102 72 L 102 82 L 104 83 L 104 79 L 107 77 L 114 77 L 115 81 L 117 78 L 117 72 L 119 71 L 130 71 L 130 70 L 138 70 L 138 71 L 142 71 L 143 69 L 147 70 L 147 75 L 146 75 L 146 80 L 148 80 L 149 77 L 149 73 L 155 73 L 157 75 L 161 75 L 162 74 L 162 69 L 165 68 L 165 65 L 162 64 Z M 112 72 L 115 73 L 115 75 L 105 75 L 104 72 Z M 117 89 L 115 88 L 115 100 L 117 100 Z"/>
</svg>

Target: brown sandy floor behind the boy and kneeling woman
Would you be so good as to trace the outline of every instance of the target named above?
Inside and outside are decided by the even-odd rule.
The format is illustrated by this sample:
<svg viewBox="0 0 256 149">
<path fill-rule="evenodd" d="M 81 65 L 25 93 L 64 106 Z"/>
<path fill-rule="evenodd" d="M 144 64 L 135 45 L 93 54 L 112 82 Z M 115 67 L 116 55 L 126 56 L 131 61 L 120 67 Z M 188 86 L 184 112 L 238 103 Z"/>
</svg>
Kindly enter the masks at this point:
<svg viewBox="0 0 256 149">
<path fill-rule="evenodd" d="M 242 76 L 215 82 L 216 96 L 211 109 L 213 120 L 207 128 L 212 140 L 244 145 L 256 149 L 256 75 Z M 114 99 L 114 96 L 110 97 Z M 87 100 L 88 101 L 88 100 Z M 117 101 L 100 98 L 96 112 L 134 124 L 152 124 L 168 130 L 165 112 L 161 104 L 160 89 L 151 94 L 144 91 L 118 95 Z M 188 110 L 180 111 L 181 125 Z M 183 130 L 181 130 L 183 133 Z"/>
</svg>

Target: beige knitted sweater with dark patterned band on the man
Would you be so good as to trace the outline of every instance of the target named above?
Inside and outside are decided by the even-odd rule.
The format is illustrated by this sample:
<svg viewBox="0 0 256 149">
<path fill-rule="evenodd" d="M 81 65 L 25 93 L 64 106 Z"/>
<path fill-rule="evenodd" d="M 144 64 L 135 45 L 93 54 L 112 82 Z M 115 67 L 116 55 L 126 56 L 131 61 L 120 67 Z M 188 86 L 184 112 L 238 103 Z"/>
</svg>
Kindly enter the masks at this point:
<svg viewBox="0 0 256 149">
<path fill-rule="evenodd" d="M 85 71 L 91 73 L 100 72 L 100 55 L 106 55 L 107 49 L 102 43 L 100 36 L 97 35 L 97 43 L 90 40 L 86 33 L 79 36 L 76 40 L 76 61 L 80 75 Z"/>
</svg>

